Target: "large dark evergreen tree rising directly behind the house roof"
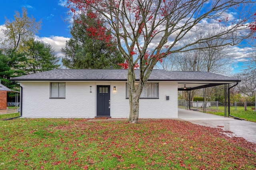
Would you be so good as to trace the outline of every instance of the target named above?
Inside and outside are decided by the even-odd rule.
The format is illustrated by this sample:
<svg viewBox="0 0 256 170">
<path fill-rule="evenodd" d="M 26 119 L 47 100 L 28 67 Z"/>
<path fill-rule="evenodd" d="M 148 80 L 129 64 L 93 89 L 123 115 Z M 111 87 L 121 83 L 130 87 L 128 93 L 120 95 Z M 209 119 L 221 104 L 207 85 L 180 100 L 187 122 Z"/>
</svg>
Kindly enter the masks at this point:
<svg viewBox="0 0 256 170">
<path fill-rule="evenodd" d="M 78 21 L 83 21 L 80 24 Z M 96 21 L 97 20 L 97 21 Z M 112 45 L 113 40 L 110 33 L 104 32 L 102 37 L 110 38 L 106 43 L 104 39 L 95 39 L 94 30 L 90 30 L 90 24 L 98 23 L 100 29 L 100 20 L 98 18 L 89 18 L 84 14 L 74 21 L 70 29 L 72 38 L 66 41 L 66 47 L 62 48 L 65 57 L 62 59 L 64 66 L 68 68 L 121 68 L 119 63 L 123 63 L 121 53 Z"/>
</svg>

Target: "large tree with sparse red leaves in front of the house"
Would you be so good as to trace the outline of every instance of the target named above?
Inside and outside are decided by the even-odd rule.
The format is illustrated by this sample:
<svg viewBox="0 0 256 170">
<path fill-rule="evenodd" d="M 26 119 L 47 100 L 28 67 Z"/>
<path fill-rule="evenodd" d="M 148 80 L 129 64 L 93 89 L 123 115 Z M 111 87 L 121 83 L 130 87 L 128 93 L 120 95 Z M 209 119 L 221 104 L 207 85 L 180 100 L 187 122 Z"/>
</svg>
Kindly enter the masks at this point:
<svg viewBox="0 0 256 170">
<path fill-rule="evenodd" d="M 104 27 L 116 38 L 118 48 L 126 59 L 127 84 L 130 103 L 129 122 L 137 123 L 139 99 L 152 69 L 167 55 L 197 49 L 195 44 L 206 44 L 222 39 L 224 45 L 236 45 L 250 33 L 247 22 L 256 13 L 250 0 L 69 0 L 71 11 L 79 14 L 88 10 L 101 15 Z M 78 10 L 78 12 L 77 12 Z M 229 18 L 232 11 L 234 18 Z M 203 36 L 186 43 L 199 27 L 219 23 L 222 32 Z M 98 23 L 96 23 L 98 24 Z M 100 30 L 99 30 L 100 31 Z M 227 36 L 228 35 L 228 36 Z M 96 37 L 97 38 L 97 37 Z M 192 47 L 189 48 L 188 47 Z M 202 48 L 207 48 L 202 47 Z M 140 68 L 138 86 L 134 66 Z"/>
</svg>

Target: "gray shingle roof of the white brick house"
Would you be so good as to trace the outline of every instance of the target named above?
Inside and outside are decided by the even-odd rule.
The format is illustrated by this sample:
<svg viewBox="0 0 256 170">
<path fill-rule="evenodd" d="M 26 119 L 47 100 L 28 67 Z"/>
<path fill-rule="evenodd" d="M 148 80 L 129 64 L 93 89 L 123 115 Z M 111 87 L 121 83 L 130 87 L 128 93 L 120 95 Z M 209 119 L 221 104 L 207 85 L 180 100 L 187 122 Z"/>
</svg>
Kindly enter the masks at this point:
<svg viewBox="0 0 256 170">
<path fill-rule="evenodd" d="M 136 79 L 139 78 L 139 71 L 135 70 Z M 105 81 L 126 81 L 127 70 L 122 69 L 58 69 L 35 74 L 28 74 L 12 78 L 15 81 L 42 81 L 42 80 L 105 80 Z M 240 81 L 236 78 L 222 76 L 211 72 L 182 72 L 182 71 L 166 71 L 153 70 L 150 74 L 151 81 Z"/>
</svg>

